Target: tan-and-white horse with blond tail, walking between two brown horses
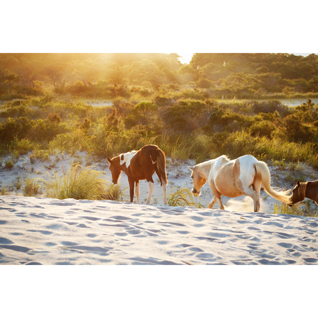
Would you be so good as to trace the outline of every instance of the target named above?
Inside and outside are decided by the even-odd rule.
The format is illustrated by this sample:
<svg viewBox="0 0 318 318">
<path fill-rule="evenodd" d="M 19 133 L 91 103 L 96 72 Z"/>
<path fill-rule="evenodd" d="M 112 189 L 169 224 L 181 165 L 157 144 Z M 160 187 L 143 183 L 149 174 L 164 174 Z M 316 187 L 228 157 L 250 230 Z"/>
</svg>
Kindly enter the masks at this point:
<svg viewBox="0 0 318 318">
<path fill-rule="evenodd" d="M 208 208 L 212 209 L 218 201 L 219 208 L 224 210 L 221 196 L 239 197 L 243 194 L 254 200 L 254 212 L 259 211 L 259 191 L 261 183 L 264 190 L 273 198 L 290 203 L 287 191 L 274 190 L 271 183 L 271 174 L 267 164 L 258 161 L 251 155 L 241 156 L 230 160 L 227 156 L 220 156 L 206 162 L 189 167 L 192 170 L 192 192 L 199 195 L 201 187 L 206 181 L 213 192 L 213 199 Z M 253 190 L 251 189 L 253 188 Z"/>
</svg>

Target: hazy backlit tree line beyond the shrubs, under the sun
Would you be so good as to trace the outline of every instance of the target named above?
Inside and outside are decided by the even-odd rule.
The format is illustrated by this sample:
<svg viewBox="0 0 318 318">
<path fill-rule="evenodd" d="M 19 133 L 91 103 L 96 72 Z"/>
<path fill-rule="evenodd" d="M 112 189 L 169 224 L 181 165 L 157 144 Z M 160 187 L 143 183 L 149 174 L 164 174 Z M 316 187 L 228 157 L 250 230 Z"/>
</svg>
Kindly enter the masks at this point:
<svg viewBox="0 0 318 318">
<path fill-rule="evenodd" d="M 318 56 L 285 53 L 0 53 L 0 98 L 59 94 L 111 98 L 132 86 L 205 89 L 211 97 L 318 93 Z M 114 95 L 114 94 L 113 94 Z"/>
</svg>

